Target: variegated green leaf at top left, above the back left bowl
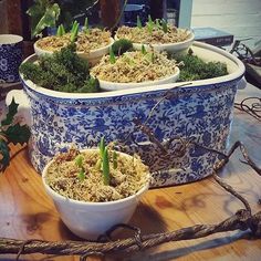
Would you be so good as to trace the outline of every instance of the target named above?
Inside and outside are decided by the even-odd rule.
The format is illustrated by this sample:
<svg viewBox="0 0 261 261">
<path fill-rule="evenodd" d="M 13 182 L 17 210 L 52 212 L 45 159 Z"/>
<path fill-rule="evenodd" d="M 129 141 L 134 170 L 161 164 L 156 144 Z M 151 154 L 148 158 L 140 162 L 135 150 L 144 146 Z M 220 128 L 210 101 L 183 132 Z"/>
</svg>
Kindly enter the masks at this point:
<svg viewBox="0 0 261 261">
<path fill-rule="evenodd" d="M 31 17 L 31 36 L 40 34 L 48 27 L 55 27 L 61 9 L 50 0 L 34 0 L 27 13 Z"/>
</svg>

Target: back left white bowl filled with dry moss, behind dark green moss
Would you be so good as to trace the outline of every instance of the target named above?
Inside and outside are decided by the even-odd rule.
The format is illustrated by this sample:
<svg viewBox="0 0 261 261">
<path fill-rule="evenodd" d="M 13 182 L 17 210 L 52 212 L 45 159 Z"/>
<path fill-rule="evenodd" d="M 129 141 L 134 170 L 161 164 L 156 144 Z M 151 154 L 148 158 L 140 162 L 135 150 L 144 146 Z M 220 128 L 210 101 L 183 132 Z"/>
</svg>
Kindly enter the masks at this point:
<svg viewBox="0 0 261 261">
<path fill-rule="evenodd" d="M 39 39 L 34 44 L 36 55 L 52 55 L 53 52 L 60 51 L 62 48 L 71 43 L 71 33 L 61 36 L 50 35 Z M 76 40 L 76 53 L 88 60 L 91 65 L 95 65 L 104 54 L 108 53 L 109 48 L 114 43 L 108 31 L 100 29 L 90 29 L 90 33 L 80 32 Z"/>
</svg>

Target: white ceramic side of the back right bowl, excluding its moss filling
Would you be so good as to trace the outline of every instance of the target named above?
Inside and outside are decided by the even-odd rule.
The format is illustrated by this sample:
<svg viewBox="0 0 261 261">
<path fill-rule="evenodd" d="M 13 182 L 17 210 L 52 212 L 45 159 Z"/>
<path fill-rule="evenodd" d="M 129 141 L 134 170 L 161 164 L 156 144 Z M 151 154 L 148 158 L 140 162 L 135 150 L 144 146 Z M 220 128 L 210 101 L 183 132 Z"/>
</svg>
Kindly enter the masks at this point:
<svg viewBox="0 0 261 261">
<path fill-rule="evenodd" d="M 159 44 L 149 44 L 149 43 L 133 43 L 135 50 L 142 50 L 142 46 L 146 50 L 150 50 L 152 48 L 155 51 L 161 52 L 170 52 L 170 53 L 179 53 L 186 52 L 190 45 L 192 45 L 195 39 L 195 34 L 192 31 L 189 31 L 189 38 L 182 42 L 176 43 L 159 43 Z M 115 35 L 115 40 L 118 40 L 117 35 Z"/>
</svg>

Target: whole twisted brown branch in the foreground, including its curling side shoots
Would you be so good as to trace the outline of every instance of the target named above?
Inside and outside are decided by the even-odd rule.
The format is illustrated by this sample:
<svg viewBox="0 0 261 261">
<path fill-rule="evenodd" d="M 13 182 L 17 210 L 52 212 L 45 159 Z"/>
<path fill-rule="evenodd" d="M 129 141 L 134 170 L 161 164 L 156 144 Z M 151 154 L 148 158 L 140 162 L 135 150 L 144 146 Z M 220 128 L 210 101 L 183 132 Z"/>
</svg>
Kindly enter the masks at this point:
<svg viewBox="0 0 261 261">
<path fill-rule="evenodd" d="M 165 233 L 152 233 L 143 236 L 139 228 L 134 228 L 128 225 L 116 225 L 107 231 L 103 237 L 105 242 L 94 241 L 61 241 L 50 242 L 44 240 L 17 240 L 0 238 L 0 253 L 13 253 L 17 254 L 17 260 L 20 254 L 43 253 L 43 254 L 58 254 L 58 255 L 80 255 L 81 260 L 86 260 L 90 255 L 105 255 L 107 253 L 124 253 L 124 252 L 137 252 L 143 249 L 148 249 L 170 241 L 190 240 L 203 238 L 213 233 L 233 231 L 233 230 L 250 230 L 257 238 L 261 238 L 261 211 L 255 215 L 251 215 L 251 208 L 248 201 L 240 196 L 231 186 L 226 184 L 217 173 L 220 171 L 225 165 L 229 161 L 229 158 L 233 152 L 240 148 L 247 164 L 252 167 L 259 175 L 261 169 L 251 160 L 244 146 L 237 142 L 228 155 L 226 155 L 220 161 L 213 166 L 215 180 L 225 188 L 228 192 L 237 197 L 244 206 L 244 209 L 238 210 L 230 218 L 221 221 L 217 225 L 196 225 L 188 228 L 182 228 L 171 232 Z M 211 150 L 213 152 L 213 150 Z M 219 152 L 217 152 L 219 153 Z M 118 227 L 124 229 L 132 229 L 134 237 L 114 240 L 112 241 L 111 234 Z M 101 238 L 103 238 L 101 237 Z"/>
</svg>

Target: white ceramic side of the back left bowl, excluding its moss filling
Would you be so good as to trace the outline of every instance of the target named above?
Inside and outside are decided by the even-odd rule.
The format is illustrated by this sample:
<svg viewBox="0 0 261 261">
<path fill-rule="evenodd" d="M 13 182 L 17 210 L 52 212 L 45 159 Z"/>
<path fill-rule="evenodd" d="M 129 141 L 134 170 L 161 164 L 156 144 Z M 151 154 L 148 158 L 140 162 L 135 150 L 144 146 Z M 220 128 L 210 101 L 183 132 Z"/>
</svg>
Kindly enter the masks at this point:
<svg viewBox="0 0 261 261">
<path fill-rule="evenodd" d="M 90 53 L 84 53 L 84 52 L 76 52 L 80 58 L 86 59 L 90 64 L 93 66 L 95 65 L 103 55 L 108 53 L 109 48 L 114 43 L 114 39 L 109 39 L 109 44 L 103 48 L 98 48 L 95 50 L 92 50 Z M 43 54 L 49 54 L 52 55 L 53 51 L 46 51 L 38 46 L 38 41 L 33 44 L 34 52 L 36 53 L 38 56 L 43 55 Z"/>
</svg>

